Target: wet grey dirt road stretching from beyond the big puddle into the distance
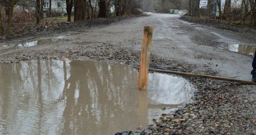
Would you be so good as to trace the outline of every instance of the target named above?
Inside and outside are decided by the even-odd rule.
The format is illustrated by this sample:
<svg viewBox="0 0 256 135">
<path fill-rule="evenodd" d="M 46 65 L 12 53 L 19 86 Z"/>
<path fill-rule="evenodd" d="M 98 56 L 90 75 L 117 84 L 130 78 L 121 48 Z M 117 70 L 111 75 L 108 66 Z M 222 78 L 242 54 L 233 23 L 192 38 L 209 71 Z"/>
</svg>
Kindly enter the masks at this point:
<svg viewBox="0 0 256 135">
<path fill-rule="evenodd" d="M 227 47 L 229 44 L 255 44 L 255 36 L 188 23 L 180 20 L 179 15 L 153 13 L 148 13 L 148 15 L 148 17 L 122 20 L 108 26 L 81 28 L 79 31 L 70 31 L 61 35 L 49 33 L 49 36 L 29 38 L 30 40 L 28 38 L 12 40 L 0 45 L 0 49 L 4 49 L 0 54 L 0 59 L 1 61 L 15 61 L 19 60 L 23 54 L 28 57 L 22 58 L 22 60 L 42 56 L 49 58 L 51 56 L 67 56 L 70 58 L 74 55 L 70 55 L 68 51 L 76 50 L 76 54 L 81 54 L 84 51 L 88 52 L 89 48 L 91 51 L 99 50 L 100 48 L 96 48 L 97 46 L 100 46 L 103 52 L 106 46 L 140 51 L 143 26 L 149 25 L 154 27 L 152 53 L 157 57 L 177 61 L 176 63 L 180 65 L 184 65 L 183 63 L 193 65 L 196 67 L 191 69 L 193 72 L 207 74 L 206 70 L 212 70 L 223 77 L 251 79 L 249 73 L 252 56 L 230 52 Z M 56 39 L 54 40 L 54 38 Z M 13 47 L 22 42 L 35 40 L 38 40 L 38 43 L 33 47 Z M 10 48 L 8 49 L 8 47 Z M 42 56 L 38 56 L 38 53 Z M 96 55 L 90 56 L 89 54 L 88 56 L 90 59 L 97 59 Z M 104 54 L 102 55 L 104 56 Z M 88 59 L 81 55 L 76 58 Z"/>
</svg>

